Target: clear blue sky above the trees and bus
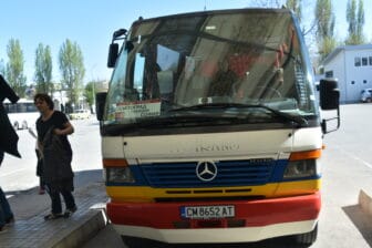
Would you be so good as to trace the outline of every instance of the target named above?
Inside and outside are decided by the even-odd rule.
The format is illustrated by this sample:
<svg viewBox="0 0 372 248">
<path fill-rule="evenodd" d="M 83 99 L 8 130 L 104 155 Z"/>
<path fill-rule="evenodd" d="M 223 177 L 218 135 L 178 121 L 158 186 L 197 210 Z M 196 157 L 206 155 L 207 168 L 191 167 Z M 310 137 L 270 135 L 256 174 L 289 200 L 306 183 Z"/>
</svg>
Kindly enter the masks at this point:
<svg viewBox="0 0 372 248">
<path fill-rule="evenodd" d="M 348 31 L 345 9 L 348 0 L 332 0 L 335 14 L 335 34 L 344 40 Z M 364 0 L 364 35 L 372 42 L 372 4 Z M 53 60 L 53 81 L 59 81 L 58 54 L 69 39 L 82 50 L 85 65 L 84 82 L 110 80 L 112 69 L 106 68 L 112 33 L 130 29 L 138 17 L 247 8 L 255 0 L 0 0 L 0 61 L 8 62 L 7 46 L 10 39 L 20 41 L 24 59 L 27 84 L 34 74 L 35 50 L 39 43 L 50 45 Z M 313 2 L 314 0 L 303 0 Z M 307 6 L 308 7 L 308 6 Z M 304 17 L 313 19 L 313 9 L 302 7 Z M 303 19 L 306 19 L 303 17 Z"/>
</svg>

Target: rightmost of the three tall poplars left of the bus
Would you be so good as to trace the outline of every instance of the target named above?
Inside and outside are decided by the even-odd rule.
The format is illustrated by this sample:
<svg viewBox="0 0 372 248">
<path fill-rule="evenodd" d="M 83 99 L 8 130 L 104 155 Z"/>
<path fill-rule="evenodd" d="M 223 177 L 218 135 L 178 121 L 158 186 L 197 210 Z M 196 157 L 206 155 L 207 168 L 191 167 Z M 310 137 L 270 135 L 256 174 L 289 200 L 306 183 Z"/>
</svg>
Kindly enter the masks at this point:
<svg viewBox="0 0 372 248">
<path fill-rule="evenodd" d="M 59 53 L 62 87 L 68 91 L 70 104 L 78 105 L 83 89 L 85 74 L 83 53 L 76 42 L 69 39 L 62 44 Z"/>
</svg>

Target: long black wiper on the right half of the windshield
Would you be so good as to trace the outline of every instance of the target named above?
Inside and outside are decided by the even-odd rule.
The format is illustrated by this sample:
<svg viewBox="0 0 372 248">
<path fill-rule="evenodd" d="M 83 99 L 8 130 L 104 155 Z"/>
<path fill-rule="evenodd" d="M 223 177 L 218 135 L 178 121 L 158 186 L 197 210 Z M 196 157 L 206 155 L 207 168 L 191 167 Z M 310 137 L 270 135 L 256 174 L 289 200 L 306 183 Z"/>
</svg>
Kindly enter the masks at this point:
<svg viewBox="0 0 372 248">
<path fill-rule="evenodd" d="M 270 113 L 275 114 L 278 117 L 282 117 L 286 121 L 294 122 L 301 126 L 307 126 L 308 121 L 300 115 L 291 115 L 282 111 L 278 111 L 276 108 L 269 107 L 265 104 L 241 104 L 241 103 L 211 103 L 211 104 L 198 104 L 193 106 L 184 106 L 177 107 L 174 110 L 169 110 L 169 112 L 180 112 L 180 111 L 195 111 L 195 110 L 206 110 L 206 108 L 264 108 L 269 111 Z"/>
</svg>

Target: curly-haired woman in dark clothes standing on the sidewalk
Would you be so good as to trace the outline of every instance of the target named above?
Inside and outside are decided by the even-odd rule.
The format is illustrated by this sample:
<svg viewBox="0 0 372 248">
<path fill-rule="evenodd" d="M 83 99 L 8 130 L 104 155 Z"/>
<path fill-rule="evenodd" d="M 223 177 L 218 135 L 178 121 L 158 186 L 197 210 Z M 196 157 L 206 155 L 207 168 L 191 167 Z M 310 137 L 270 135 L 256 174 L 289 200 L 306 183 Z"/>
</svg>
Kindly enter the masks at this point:
<svg viewBox="0 0 372 248">
<path fill-rule="evenodd" d="M 72 149 L 66 135 L 74 130 L 65 114 L 54 110 L 49 95 L 37 94 L 34 104 L 41 113 L 37 121 L 38 145 L 43 161 L 43 179 L 52 200 L 52 211 L 44 219 L 70 217 L 76 210 L 76 205 L 72 195 Z M 65 203 L 64 214 L 60 195 Z"/>
</svg>

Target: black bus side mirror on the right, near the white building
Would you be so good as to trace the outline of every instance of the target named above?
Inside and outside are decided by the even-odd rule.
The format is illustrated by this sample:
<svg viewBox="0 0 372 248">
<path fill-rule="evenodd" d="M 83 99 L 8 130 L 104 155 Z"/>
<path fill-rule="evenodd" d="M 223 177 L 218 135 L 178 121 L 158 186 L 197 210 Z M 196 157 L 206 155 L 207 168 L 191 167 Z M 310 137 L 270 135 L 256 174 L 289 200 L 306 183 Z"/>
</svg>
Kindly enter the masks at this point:
<svg viewBox="0 0 372 248">
<path fill-rule="evenodd" d="M 323 79 L 319 82 L 319 104 L 323 111 L 337 111 L 335 117 L 322 120 L 322 132 L 324 134 L 337 131 L 340 127 L 340 90 L 337 79 Z M 337 126 L 328 130 L 327 123 L 337 121 Z"/>
</svg>

